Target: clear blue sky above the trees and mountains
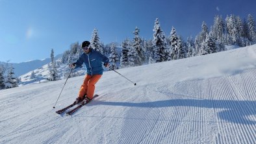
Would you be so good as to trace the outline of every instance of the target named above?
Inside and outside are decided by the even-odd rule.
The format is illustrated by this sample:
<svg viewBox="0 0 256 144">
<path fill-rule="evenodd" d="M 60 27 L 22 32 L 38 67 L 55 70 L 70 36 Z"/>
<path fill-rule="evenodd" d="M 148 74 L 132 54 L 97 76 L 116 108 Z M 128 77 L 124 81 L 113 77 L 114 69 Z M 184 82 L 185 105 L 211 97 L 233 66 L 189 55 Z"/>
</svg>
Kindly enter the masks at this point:
<svg viewBox="0 0 256 144">
<path fill-rule="evenodd" d="M 210 27 L 216 14 L 256 18 L 255 0 L 0 0 L 0 61 L 25 62 L 48 58 L 69 49 L 73 42 L 90 40 L 96 28 L 101 42 L 121 43 L 140 36 L 153 38 L 159 18 L 170 35 L 193 37 L 205 21 Z M 256 19 L 255 19 L 256 20 Z"/>
</svg>

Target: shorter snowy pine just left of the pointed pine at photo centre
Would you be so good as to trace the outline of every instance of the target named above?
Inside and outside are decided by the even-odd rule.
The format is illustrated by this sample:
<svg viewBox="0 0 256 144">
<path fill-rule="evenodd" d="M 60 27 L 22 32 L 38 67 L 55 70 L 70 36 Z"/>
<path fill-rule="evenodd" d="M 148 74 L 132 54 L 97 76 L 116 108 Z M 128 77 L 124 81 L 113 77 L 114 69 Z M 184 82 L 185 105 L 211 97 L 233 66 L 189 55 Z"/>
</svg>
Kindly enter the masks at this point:
<svg viewBox="0 0 256 144">
<path fill-rule="evenodd" d="M 128 67 L 129 66 L 129 47 L 130 47 L 130 41 L 128 38 L 126 38 L 122 43 L 122 56 L 120 58 L 120 67 Z"/>
</svg>

